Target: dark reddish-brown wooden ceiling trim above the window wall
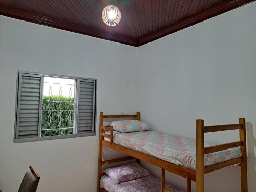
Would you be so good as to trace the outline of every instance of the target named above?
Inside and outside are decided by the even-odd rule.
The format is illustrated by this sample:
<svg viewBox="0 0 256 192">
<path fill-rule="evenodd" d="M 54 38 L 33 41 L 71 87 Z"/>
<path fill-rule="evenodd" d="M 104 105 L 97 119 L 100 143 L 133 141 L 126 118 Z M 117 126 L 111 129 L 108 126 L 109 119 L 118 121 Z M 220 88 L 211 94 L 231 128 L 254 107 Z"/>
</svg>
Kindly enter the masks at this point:
<svg viewBox="0 0 256 192">
<path fill-rule="evenodd" d="M 63 22 L 62 20 L 49 18 L 46 16 L 30 13 L 27 11 L 17 10 L 7 6 L 0 5 L 0 14 L 4 16 L 12 17 L 12 18 L 25 20 L 27 22 L 51 26 L 57 29 L 62 29 L 70 32 L 83 34 L 83 35 L 89 35 L 89 36 L 102 38 L 106 40 L 112 40 L 115 42 L 120 42 L 122 44 L 138 47 L 138 41 L 137 39 L 134 39 L 134 38 L 116 35 L 113 33 L 108 33 L 105 31 L 92 29 L 92 28 L 76 25 L 69 22 Z"/>
</svg>

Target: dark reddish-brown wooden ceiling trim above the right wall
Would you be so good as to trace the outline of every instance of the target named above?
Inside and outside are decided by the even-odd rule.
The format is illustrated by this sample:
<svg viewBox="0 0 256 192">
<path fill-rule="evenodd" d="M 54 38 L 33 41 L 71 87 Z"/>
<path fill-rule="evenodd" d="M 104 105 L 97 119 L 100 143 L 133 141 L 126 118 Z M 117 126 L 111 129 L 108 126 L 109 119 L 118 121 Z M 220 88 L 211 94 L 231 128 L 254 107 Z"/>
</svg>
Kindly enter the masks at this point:
<svg viewBox="0 0 256 192">
<path fill-rule="evenodd" d="M 192 15 L 188 18 L 185 18 L 181 22 L 177 22 L 173 25 L 170 25 L 168 27 L 165 27 L 161 30 L 158 30 L 155 33 L 152 33 L 150 35 L 147 35 L 145 37 L 142 37 L 139 39 L 138 46 L 142 46 L 144 44 L 147 44 L 148 42 L 151 42 L 153 40 L 156 40 L 158 38 L 161 38 L 163 36 L 175 33 L 179 30 L 182 30 L 184 28 L 190 27 L 192 25 L 195 25 L 197 23 L 202 22 L 203 20 L 212 18 L 214 16 L 220 15 L 222 13 L 225 13 L 227 11 L 236 9 L 242 5 L 254 2 L 255 0 L 233 0 L 231 2 L 223 3 L 221 5 L 217 5 L 215 7 L 212 7 L 206 11 L 200 12 L 196 15 Z"/>
</svg>

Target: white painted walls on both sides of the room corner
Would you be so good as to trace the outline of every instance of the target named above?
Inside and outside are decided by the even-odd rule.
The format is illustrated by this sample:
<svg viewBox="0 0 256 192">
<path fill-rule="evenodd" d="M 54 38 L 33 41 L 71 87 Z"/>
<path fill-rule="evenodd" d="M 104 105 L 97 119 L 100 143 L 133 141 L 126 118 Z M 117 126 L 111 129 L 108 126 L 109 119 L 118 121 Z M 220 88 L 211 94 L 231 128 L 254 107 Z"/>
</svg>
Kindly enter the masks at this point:
<svg viewBox="0 0 256 192">
<path fill-rule="evenodd" d="M 13 143 L 17 70 L 97 78 L 98 113 L 139 110 L 142 120 L 166 133 L 195 137 L 198 118 L 222 124 L 245 117 L 249 191 L 256 191 L 255 10 L 251 3 L 139 49 L 0 16 L 3 192 L 17 191 L 29 164 L 42 176 L 39 192 L 96 190 L 98 136 Z M 207 139 L 238 137 L 227 132 Z M 227 169 L 206 176 L 206 192 L 239 191 L 239 168 Z M 159 168 L 151 172 L 158 175 Z M 185 188 L 178 176 L 168 180 Z"/>
</svg>

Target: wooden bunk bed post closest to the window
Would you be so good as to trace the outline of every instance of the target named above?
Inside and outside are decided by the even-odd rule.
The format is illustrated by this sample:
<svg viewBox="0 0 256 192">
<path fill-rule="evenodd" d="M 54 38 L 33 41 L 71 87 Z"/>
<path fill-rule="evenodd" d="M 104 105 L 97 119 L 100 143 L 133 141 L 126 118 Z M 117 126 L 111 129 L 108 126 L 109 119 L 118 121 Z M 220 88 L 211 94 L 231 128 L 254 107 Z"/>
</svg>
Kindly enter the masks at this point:
<svg viewBox="0 0 256 192">
<path fill-rule="evenodd" d="M 99 159 L 98 159 L 98 186 L 97 186 L 97 192 L 100 192 L 100 186 L 99 186 L 99 183 L 100 183 L 100 179 L 101 179 L 101 176 L 102 176 L 102 144 L 101 144 L 101 141 L 102 141 L 102 136 L 101 136 L 101 133 L 102 133 L 102 129 L 101 127 L 103 126 L 103 112 L 100 112 L 100 119 L 99 119 Z"/>
</svg>

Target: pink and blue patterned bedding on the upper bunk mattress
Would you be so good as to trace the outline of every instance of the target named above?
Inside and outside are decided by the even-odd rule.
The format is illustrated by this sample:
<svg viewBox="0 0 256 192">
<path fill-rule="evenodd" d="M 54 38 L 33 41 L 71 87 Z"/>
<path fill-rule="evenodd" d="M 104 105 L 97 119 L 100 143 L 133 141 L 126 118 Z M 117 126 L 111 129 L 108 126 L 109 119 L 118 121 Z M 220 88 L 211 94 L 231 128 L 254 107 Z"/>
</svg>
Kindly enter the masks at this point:
<svg viewBox="0 0 256 192">
<path fill-rule="evenodd" d="M 119 133 L 114 131 L 113 141 L 127 148 L 159 159 L 196 170 L 196 140 L 156 131 Z M 109 138 L 104 138 L 109 141 Z M 205 142 L 205 147 L 216 145 Z M 241 157 L 239 147 L 204 155 L 204 165 L 209 166 Z"/>
</svg>

